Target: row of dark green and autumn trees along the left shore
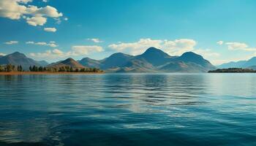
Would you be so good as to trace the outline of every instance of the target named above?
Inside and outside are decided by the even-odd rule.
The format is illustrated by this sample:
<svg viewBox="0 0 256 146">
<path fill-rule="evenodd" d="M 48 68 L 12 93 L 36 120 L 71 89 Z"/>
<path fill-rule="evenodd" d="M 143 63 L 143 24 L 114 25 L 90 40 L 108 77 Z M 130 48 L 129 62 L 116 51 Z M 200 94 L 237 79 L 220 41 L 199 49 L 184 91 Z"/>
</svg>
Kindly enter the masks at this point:
<svg viewBox="0 0 256 146">
<path fill-rule="evenodd" d="M 58 68 L 44 67 L 44 66 L 29 66 L 29 69 L 24 69 L 23 66 L 7 64 L 0 66 L 0 72 L 53 72 L 53 73 L 63 73 L 63 72 L 80 72 L 80 73 L 102 73 L 101 69 L 97 68 L 73 68 L 72 66 L 61 66 Z"/>
</svg>

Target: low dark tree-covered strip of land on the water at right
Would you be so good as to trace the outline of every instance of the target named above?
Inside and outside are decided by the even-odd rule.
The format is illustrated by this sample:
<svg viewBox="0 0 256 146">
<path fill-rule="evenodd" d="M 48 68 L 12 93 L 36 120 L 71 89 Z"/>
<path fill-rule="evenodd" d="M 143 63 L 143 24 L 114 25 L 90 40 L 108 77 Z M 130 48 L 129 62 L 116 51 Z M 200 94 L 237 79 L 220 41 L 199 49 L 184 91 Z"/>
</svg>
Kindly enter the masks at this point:
<svg viewBox="0 0 256 146">
<path fill-rule="evenodd" d="M 256 70 L 242 69 L 242 68 L 228 68 L 228 69 L 211 70 L 208 73 L 256 73 Z"/>
</svg>

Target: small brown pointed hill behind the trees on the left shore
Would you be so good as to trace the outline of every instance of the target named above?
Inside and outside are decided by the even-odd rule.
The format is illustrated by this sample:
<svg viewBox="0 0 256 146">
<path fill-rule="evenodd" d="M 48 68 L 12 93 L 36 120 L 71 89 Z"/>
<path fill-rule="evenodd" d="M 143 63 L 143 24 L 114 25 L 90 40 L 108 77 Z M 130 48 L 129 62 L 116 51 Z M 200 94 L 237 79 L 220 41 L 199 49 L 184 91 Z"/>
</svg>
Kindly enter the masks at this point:
<svg viewBox="0 0 256 146">
<path fill-rule="evenodd" d="M 75 61 L 72 58 L 67 58 L 64 61 L 58 61 L 56 63 L 49 64 L 47 66 L 47 68 L 59 69 L 61 67 L 65 67 L 65 66 L 72 67 L 73 69 L 83 69 L 83 68 L 86 68 L 85 66 L 83 66 L 82 64 L 79 64 L 78 61 Z"/>
</svg>

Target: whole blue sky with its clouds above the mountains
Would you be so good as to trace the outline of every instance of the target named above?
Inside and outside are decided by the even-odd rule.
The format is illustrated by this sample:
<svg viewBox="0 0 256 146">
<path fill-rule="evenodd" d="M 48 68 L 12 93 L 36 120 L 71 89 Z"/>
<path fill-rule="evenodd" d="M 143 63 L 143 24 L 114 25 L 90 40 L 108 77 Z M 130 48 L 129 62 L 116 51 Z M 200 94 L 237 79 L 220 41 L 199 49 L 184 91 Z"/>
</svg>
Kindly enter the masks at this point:
<svg viewBox="0 0 256 146">
<path fill-rule="evenodd" d="M 0 0 L 0 53 L 49 62 L 194 51 L 213 64 L 256 56 L 253 0 Z"/>
</svg>

